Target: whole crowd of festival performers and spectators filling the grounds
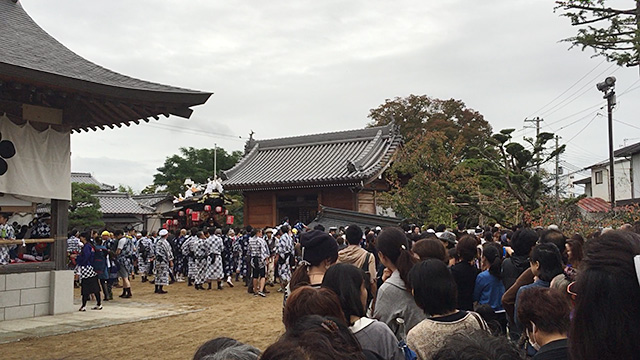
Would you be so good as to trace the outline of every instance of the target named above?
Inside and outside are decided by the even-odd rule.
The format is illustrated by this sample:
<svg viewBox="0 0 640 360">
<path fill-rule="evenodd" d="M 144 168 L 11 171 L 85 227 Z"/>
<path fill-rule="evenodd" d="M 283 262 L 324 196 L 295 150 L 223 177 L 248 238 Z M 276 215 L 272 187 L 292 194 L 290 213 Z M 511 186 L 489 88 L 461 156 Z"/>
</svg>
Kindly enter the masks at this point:
<svg viewBox="0 0 640 360">
<path fill-rule="evenodd" d="M 71 235 L 81 311 L 91 295 L 101 309 L 116 278 L 131 297 L 136 273 L 159 294 L 173 281 L 204 290 L 242 278 L 265 297 L 280 283 L 286 331 L 275 343 L 261 353 L 217 338 L 195 359 L 640 358 L 640 235 L 631 226 L 586 239 L 553 225 L 325 231 L 287 221 Z"/>
</svg>

